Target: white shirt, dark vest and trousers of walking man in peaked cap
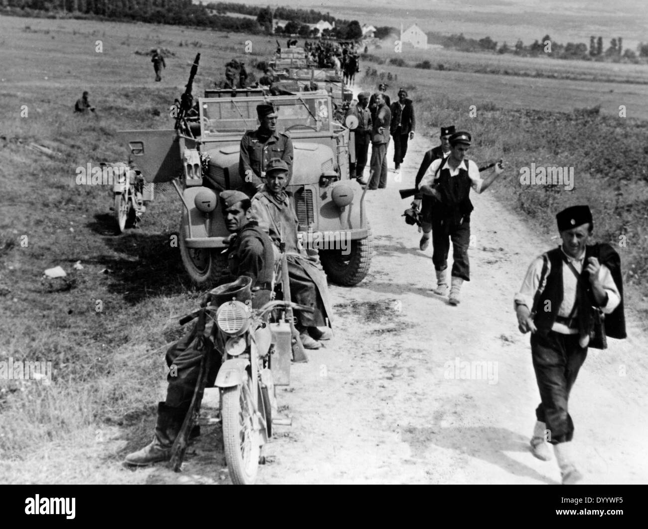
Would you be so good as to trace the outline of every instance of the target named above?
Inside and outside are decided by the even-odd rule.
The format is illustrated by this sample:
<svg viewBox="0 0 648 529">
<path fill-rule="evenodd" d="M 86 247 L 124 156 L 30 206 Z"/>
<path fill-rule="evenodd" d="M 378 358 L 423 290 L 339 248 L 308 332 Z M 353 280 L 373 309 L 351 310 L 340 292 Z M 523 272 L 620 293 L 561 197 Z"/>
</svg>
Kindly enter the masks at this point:
<svg viewBox="0 0 648 529">
<path fill-rule="evenodd" d="M 468 246 L 470 243 L 470 188 L 481 191 L 483 180 L 474 161 L 463 159 L 456 169 L 448 166 L 448 158 L 435 159 L 420 185 L 432 185 L 441 193 L 432 210 L 432 263 L 435 270 L 448 267 L 448 250 L 452 241 L 452 276 L 470 281 Z M 450 239 L 450 241 L 448 241 Z"/>
</svg>

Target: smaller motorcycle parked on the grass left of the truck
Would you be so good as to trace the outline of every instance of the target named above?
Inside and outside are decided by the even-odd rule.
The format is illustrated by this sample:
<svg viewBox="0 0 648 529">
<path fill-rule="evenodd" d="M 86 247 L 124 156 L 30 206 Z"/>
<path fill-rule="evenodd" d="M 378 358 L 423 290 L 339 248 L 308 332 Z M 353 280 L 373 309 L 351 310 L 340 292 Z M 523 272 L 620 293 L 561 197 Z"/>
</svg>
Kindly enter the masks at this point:
<svg viewBox="0 0 648 529">
<path fill-rule="evenodd" d="M 101 163 L 102 167 L 108 166 Z M 113 215 L 117 223 L 117 233 L 124 233 L 126 228 L 137 226 L 146 211 L 146 202 L 152 200 L 153 184 L 145 185 L 144 177 L 137 169 L 128 167 L 126 163 L 111 164 L 113 175 Z M 145 197 L 145 194 L 149 195 Z"/>
</svg>

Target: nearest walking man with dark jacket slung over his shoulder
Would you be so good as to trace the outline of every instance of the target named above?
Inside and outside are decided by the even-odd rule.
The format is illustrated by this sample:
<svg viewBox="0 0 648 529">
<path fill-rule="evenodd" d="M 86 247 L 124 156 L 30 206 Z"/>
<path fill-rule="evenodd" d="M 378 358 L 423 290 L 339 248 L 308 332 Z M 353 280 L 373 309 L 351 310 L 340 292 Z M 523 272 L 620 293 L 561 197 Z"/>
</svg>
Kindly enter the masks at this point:
<svg viewBox="0 0 648 529">
<path fill-rule="evenodd" d="M 531 331 L 531 359 L 540 390 L 531 452 L 551 459 L 553 445 L 562 484 L 583 479 L 572 455 L 573 421 L 568 401 L 592 342 L 599 309 L 606 314 L 608 336 L 625 338 L 623 284 L 619 255 L 610 244 L 592 244 L 594 222 L 588 206 L 572 206 L 556 215 L 562 244 L 529 266 L 515 312 L 521 333 Z"/>
</svg>

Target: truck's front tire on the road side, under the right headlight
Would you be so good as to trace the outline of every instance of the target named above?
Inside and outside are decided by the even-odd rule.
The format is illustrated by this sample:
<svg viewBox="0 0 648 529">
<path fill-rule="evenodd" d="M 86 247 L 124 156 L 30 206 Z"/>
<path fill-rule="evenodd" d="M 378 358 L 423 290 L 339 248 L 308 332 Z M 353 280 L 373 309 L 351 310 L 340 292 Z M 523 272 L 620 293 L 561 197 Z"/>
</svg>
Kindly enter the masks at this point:
<svg viewBox="0 0 648 529">
<path fill-rule="evenodd" d="M 349 255 L 342 255 L 341 250 L 322 250 L 319 259 L 331 281 L 343 287 L 353 287 L 367 276 L 372 254 L 373 237 L 367 222 L 367 237 L 351 241 Z"/>
</svg>

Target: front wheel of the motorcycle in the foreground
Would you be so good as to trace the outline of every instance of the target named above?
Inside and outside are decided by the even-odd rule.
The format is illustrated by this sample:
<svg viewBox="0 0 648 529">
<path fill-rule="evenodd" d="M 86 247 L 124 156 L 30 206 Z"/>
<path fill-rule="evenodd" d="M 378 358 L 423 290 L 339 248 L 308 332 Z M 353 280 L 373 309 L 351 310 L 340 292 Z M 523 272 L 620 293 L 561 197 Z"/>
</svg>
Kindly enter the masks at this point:
<svg viewBox="0 0 648 529">
<path fill-rule="evenodd" d="M 235 485 L 251 485 L 259 469 L 260 433 L 254 423 L 249 375 L 238 386 L 223 390 L 222 419 L 229 477 Z"/>
</svg>

